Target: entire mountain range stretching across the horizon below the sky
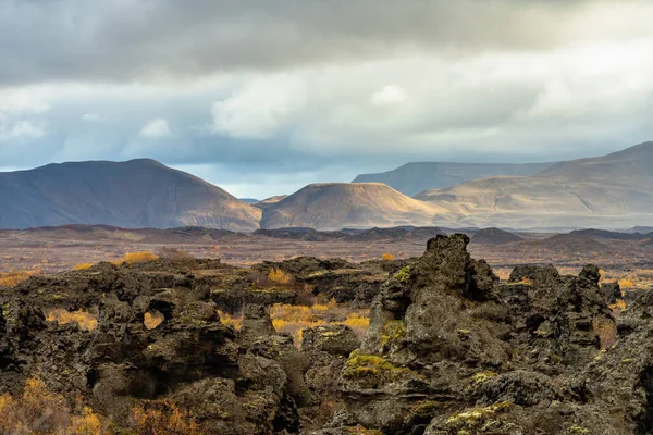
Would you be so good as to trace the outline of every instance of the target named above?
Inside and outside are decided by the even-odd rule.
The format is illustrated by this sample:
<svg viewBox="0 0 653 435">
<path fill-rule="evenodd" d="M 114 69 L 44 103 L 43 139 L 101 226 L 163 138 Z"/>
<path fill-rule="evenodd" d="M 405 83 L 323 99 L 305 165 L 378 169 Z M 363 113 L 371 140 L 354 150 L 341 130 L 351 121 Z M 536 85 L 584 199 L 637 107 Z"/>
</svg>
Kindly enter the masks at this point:
<svg viewBox="0 0 653 435">
<path fill-rule="evenodd" d="M 106 224 L 238 232 L 434 225 L 542 229 L 626 228 L 653 222 L 653 142 L 558 163 L 414 163 L 377 175 L 397 188 L 382 183 L 312 184 L 287 197 L 249 204 L 149 159 L 50 164 L 0 173 L 0 228 Z M 458 179 L 463 181 L 412 198 L 401 191 Z"/>
</svg>

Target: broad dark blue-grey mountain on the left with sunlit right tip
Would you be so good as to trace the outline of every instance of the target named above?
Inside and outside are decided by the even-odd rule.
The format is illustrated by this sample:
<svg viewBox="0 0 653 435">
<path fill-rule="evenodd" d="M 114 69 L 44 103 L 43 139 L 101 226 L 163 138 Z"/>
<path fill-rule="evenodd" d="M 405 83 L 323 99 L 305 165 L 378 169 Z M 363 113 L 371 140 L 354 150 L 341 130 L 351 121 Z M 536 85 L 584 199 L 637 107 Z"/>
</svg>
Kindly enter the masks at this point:
<svg viewBox="0 0 653 435">
<path fill-rule="evenodd" d="M 0 228 L 104 224 L 125 228 L 258 228 L 261 211 L 153 160 L 49 164 L 0 173 Z"/>
</svg>

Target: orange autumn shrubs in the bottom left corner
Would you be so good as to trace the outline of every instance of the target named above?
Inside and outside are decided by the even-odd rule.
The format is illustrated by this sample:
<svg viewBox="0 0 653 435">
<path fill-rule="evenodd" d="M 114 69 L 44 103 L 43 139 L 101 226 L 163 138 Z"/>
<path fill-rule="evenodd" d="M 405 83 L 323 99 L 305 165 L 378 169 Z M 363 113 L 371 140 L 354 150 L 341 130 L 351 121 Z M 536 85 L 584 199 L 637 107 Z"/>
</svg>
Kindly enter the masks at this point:
<svg viewBox="0 0 653 435">
<path fill-rule="evenodd" d="M 63 396 L 49 391 L 41 380 L 32 377 L 25 383 L 22 396 L 0 396 L 0 433 L 101 435 L 107 432 L 90 408 L 72 412 Z"/>
</svg>

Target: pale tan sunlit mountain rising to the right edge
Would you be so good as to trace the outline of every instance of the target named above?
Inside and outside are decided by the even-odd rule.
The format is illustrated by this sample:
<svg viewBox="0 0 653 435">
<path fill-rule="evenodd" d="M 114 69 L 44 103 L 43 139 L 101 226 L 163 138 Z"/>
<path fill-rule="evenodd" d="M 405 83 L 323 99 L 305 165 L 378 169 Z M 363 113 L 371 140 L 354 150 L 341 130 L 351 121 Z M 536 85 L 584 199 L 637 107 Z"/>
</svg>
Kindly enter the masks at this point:
<svg viewBox="0 0 653 435">
<path fill-rule="evenodd" d="M 653 142 L 556 163 L 531 176 L 473 179 L 415 198 L 477 226 L 627 227 L 653 219 Z"/>
</svg>

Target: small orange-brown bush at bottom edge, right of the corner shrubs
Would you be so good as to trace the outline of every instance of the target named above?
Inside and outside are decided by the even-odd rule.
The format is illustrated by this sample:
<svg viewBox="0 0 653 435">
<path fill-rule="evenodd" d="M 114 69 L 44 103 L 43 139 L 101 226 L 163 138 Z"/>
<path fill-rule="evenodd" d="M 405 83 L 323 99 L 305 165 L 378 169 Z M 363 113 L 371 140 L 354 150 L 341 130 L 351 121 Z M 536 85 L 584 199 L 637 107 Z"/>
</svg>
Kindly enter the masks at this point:
<svg viewBox="0 0 653 435">
<path fill-rule="evenodd" d="M 146 401 L 132 409 L 133 433 L 137 435 L 200 435 L 187 411 L 168 401 Z"/>
</svg>

